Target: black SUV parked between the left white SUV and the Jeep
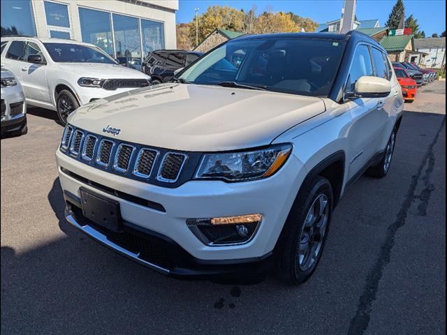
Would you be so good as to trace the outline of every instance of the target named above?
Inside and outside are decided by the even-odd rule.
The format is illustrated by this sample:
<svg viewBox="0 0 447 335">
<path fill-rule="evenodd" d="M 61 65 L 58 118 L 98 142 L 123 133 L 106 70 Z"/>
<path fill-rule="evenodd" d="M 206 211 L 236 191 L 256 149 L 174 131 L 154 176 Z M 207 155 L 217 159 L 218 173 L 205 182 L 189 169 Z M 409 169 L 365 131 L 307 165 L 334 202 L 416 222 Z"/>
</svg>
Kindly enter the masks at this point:
<svg viewBox="0 0 447 335">
<path fill-rule="evenodd" d="M 175 70 L 188 66 L 202 55 L 203 52 L 195 51 L 156 50 L 147 55 L 141 70 L 151 76 L 152 84 L 160 84 L 171 80 Z"/>
</svg>

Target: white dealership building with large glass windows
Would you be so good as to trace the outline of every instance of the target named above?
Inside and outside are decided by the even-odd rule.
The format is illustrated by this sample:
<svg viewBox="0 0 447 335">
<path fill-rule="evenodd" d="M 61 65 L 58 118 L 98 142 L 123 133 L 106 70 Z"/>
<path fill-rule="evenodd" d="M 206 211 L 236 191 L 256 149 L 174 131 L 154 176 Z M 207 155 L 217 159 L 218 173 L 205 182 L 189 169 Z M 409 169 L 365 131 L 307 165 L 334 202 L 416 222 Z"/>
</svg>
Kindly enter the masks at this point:
<svg viewBox="0 0 447 335">
<path fill-rule="evenodd" d="M 1 0 L 1 36 L 67 38 L 141 61 L 175 49 L 178 0 Z"/>
</svg>

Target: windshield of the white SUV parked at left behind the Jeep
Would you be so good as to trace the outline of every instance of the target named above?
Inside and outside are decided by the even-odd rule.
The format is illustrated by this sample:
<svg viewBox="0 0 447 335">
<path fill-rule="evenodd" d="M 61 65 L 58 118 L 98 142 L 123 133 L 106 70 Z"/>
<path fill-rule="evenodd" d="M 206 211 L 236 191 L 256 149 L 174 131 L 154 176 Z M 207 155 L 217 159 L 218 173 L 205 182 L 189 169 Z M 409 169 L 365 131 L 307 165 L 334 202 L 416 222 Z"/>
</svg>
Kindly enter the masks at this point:
<svg viewBox="0 0 447 335">
<path fill-rule="evenodd" d="M 43 43 L 53 61 L 57 63 L 117 64 L 96 47 L 71 43 Z"/>
</svg>

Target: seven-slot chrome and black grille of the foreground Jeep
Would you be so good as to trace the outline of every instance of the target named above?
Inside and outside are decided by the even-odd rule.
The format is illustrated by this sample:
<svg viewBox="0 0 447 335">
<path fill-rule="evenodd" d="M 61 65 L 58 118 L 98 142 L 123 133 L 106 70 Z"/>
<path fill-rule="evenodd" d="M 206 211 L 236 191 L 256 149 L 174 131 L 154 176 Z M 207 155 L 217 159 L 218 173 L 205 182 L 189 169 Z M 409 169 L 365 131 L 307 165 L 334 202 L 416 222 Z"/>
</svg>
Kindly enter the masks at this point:
<svg viewBox="0 0 447 335">
<path fill-rule="evenodd" d="M 147 147 L 89 133 L 71 125 L 60 150 L 81 163 L 149 184 L 177 187 L 193 177 L 201 153 Z"/>
</svg>

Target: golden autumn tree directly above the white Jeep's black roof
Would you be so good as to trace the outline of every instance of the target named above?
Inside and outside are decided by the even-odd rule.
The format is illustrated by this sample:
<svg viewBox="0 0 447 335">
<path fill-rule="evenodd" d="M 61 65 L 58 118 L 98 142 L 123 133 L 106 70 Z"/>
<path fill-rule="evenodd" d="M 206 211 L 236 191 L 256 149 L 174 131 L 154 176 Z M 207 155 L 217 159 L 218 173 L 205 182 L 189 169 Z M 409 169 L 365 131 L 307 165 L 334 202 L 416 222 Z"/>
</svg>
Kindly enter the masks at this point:
<svg viewBox="0 0 447 335">
<path fill-rule="evenodd" d="M 264 12 L 258 16 L 254 24 L 255 34 L 292 33 L 300 31 L 291 15 L 283 12 Z"/>
</svg>

